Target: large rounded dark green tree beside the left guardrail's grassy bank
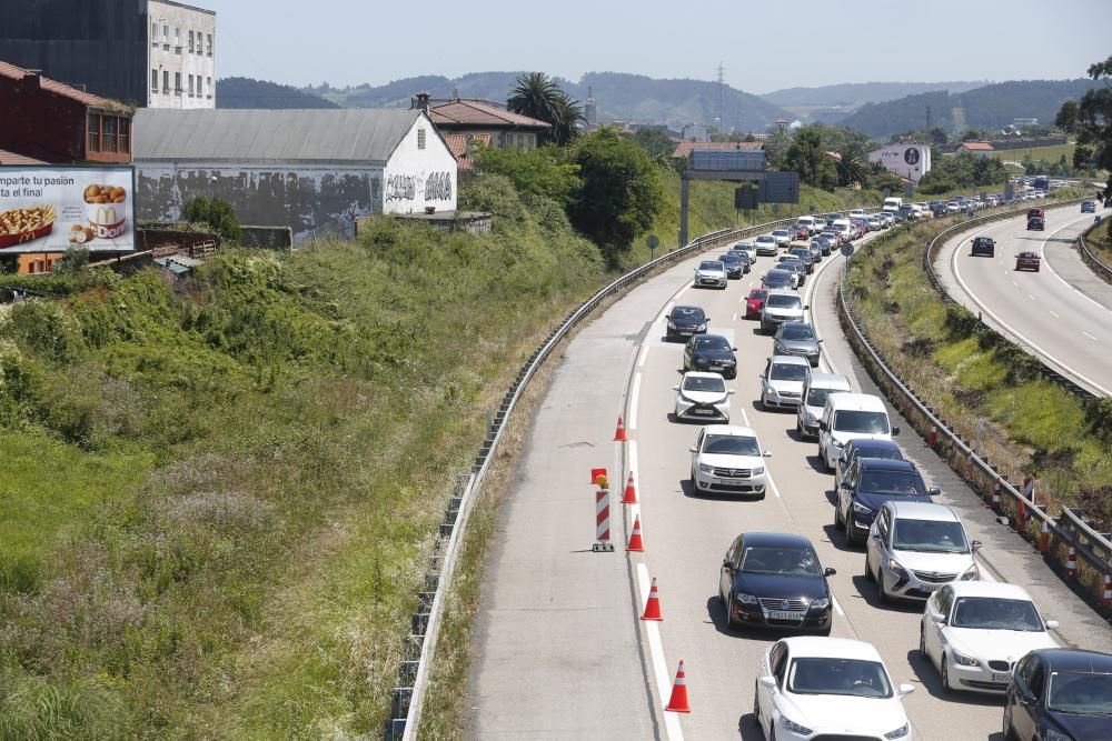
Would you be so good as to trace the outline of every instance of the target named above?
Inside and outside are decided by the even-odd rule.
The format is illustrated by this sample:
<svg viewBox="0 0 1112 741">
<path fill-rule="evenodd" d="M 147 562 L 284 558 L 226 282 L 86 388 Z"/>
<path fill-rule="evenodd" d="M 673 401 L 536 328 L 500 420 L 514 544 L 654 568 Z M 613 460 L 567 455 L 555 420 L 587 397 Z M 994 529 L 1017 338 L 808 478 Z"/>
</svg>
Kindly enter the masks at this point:
<svg viewBox="0 0 1112 741">
<path fill-rule="evenodd" d="M 664 207 L 657 168 L 612 127 L 580 139 L 575 161 L 583 187 L 572 204 L 572 223 L 598 244 L 607 264 L 617 267 Z"/>
</svg>

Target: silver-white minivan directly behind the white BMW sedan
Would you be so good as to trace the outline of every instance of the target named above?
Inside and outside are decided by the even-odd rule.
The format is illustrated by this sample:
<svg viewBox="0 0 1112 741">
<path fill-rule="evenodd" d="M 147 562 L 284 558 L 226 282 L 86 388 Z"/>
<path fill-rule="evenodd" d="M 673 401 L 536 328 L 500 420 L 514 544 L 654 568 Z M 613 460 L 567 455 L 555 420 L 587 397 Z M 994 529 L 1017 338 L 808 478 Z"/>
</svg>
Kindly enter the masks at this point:
<svg viewBox="0 0 1112 741">
<path fill-rule="evenodd" d="M 975 581 L 981 571 L 957 514 L 934 502 L 884 502 L 865 542 L 865 577 L 877 582 L 881 601 L 926 600 L 943 584 Z"/>
</svg>

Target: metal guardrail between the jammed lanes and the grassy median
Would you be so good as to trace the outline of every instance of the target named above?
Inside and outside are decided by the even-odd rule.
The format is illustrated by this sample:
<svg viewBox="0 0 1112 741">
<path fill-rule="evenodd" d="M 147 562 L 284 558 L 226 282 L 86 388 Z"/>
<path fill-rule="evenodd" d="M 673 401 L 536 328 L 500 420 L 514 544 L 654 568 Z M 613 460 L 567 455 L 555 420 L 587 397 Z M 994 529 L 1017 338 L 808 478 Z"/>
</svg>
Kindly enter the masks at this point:
<svg viewBox="0 0 1112 741">
<path fill-rule="evenodd" d="M 965 221 L 956 227 L 951 227 L 940 233 L 939 237 L 942 237 L 944 233 L 952 231 L 955 228 L 967 227 L 970 221 Z M 1031 532 L 1029 527 L 1024 527 L 1023 531 L 1020 532 L 1023 538 L 1027 540 L 1036 540 L 1037 530 L 1041 529 L 1041 524 L 1045 522 L 1049 535 L 1051 539 L 1056 541 L 1054 548 L 1050 550 L 1052 552 L 1059 552 L 1059 554 L 1062 555 L 1062 551 L 1064 551 L 1065 548 L 1073 545 L 1078 555 L 1080 555 L 1084 562 L 1088 562 L 1090 568 L 1098 573 L 1098 578 L 1095 580 L 1091 580 L 1091 590 L 1101 589 L 1103 587 L 1101 583 L 1103 574 L 1112 572 L 1112 540 L 1109 539 L 1109 535 L 1093 530 L 1082 518 L 1076 515 L 1069 508 L 1062 508 L 1061 520 L 1055 520 L 1045 511 L 1044 508 L 1041 508 L 1035 504 L 1035 502 L 1027 500 L 1020 489 L 1007 481 L 1004 481 L 1003 477 L 989 463 L 987 460 L 981 458 L 969 442 L 963 440 L 960 434 L 946 424 L 945 420 L 935 414 L 934 411 L 916 395 L 911 387 L 904 382 L 904 380 L 901 379 L 894 370 L 892 370 L 884 357 L 881 354 L 880 350 L 876 349 L 865 334 L 864 330 L 861 328 L 853 309 L 850 307 L 845 298 L 845 279 L 847 271 L 848 268 L 843 269 L 838 279 L 837 308 L 844 320 L 843 324 L 847 326 L 853 332 L 853 337 L 850 338 L 851 343 L 856 344 L 864 350 L 864 353 L 858 352 L 857 354 L 867 356 L 872 366 L 886 380 L 886 383 L 882 383 L 880 385 L 895 392 L 896 398 L 892 400 L 897 407 L 902 408 L 904 415 L 909 418 L 909 421 L 913 424 L 919 421 L 921 428 L 930 428 L 933 425 L 937 430 L 939 443 L 936 443 L 936 448 L 944 449 L 946 443 L 943 441 L 949 441 L 950 451 L 943 452 L 950 452 L 951 455 L 954 459 L 957 459 L 961 463 L 954 464 L 954 461 L 951 460 L 951 468 L 953 468 L 959 475 L 973 485 L 974 491 L 977 491 L 982 499 L 987 499 L 992 487 L 995 483 L 1000 483 L 1002 493 L 1005 493 L 1009 497 L 1011 504 L 1010 509 L 1013 510 L 1013 512 L 1019 509 L 1019 504 L 1022 502 L 1024 511 L 1027 513 L 1026 517 L 1033 518 L 1039 525 L 1039 528 L 1035 529 L 1036 532 L 1034 534 Z M 856 340 L 855 343 L 853 342 L 854 339 Z M 865 357 L 862 359 L 864 360 Z M 891 397 L 892 394 L 890 393 L 890 398 Z M 909 411 L 912 413 L 909 414 Z M 920 429 L 919 431 L 924 438 L 927 437 L 927 429 Z M 972 470 L 970 470 L 970 468 L 972 468 Z M 1005 507 L 1005 510 L 1006 509 L 1009 508 Z M 1064 561 L 1064 558 L 1060 560 Z M 1094 583 L 1100 584 L 1100 587 L 1095 587 Z M 1100 592 L 1096 592 L 1094 601 L 1100 601 L 1099 595 Z"/>
</svg>

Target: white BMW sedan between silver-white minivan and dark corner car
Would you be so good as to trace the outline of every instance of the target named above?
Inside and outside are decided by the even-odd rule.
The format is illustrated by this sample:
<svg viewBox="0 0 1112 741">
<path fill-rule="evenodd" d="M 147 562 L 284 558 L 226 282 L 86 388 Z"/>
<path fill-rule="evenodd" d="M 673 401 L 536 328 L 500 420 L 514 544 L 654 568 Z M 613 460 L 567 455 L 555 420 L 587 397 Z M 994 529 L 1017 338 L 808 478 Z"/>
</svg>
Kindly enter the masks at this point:
<svg viewBox="0 0 1112 741">
<path fill-rule="evenodd" d="M 1003 694 L 1012 669 L 1027 651 L 1058 648 L 1022 587 L 995 581 L 956 581 L 926 601 L 920 654 L 939 669 L 942 690 Z"/>
</svg>

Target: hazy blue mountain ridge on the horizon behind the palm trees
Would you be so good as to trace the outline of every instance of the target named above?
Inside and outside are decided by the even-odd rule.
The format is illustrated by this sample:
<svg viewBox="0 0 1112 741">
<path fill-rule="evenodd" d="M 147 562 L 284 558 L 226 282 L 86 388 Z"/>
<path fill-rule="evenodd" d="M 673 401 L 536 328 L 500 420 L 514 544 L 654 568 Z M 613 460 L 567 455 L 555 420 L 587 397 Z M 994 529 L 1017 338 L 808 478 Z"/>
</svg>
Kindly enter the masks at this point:
<svg viewBox="0 0 1112 741">
<path fill-rule="evenodd" d="M 456 79 L 417 77 L 388 84 L 359 86 L 337 90 L 320 87 L 307 91 L 345 107 L 376 108 L 408 106 L 419 90 L 434 98 L 458 93 L 463 98 L 485 98 L 505 101 L 520 72 L 476 72 Z M 657 80 L 639 74 L 589 72 L 578 81 L 556 78 L 569 96 L 586 100 L 588 91 L 598 103 L 600 121 L 667 123 L 678 128 L 685 123 L 713 123 L 718 117 L 719 88 L 705 80 Z M 724 87 L 721 90 L 724 128 L 741 131 L 764 131 L 776 119 L 791 119 L 782 108 L 761 98 Z"/>
</svg>

